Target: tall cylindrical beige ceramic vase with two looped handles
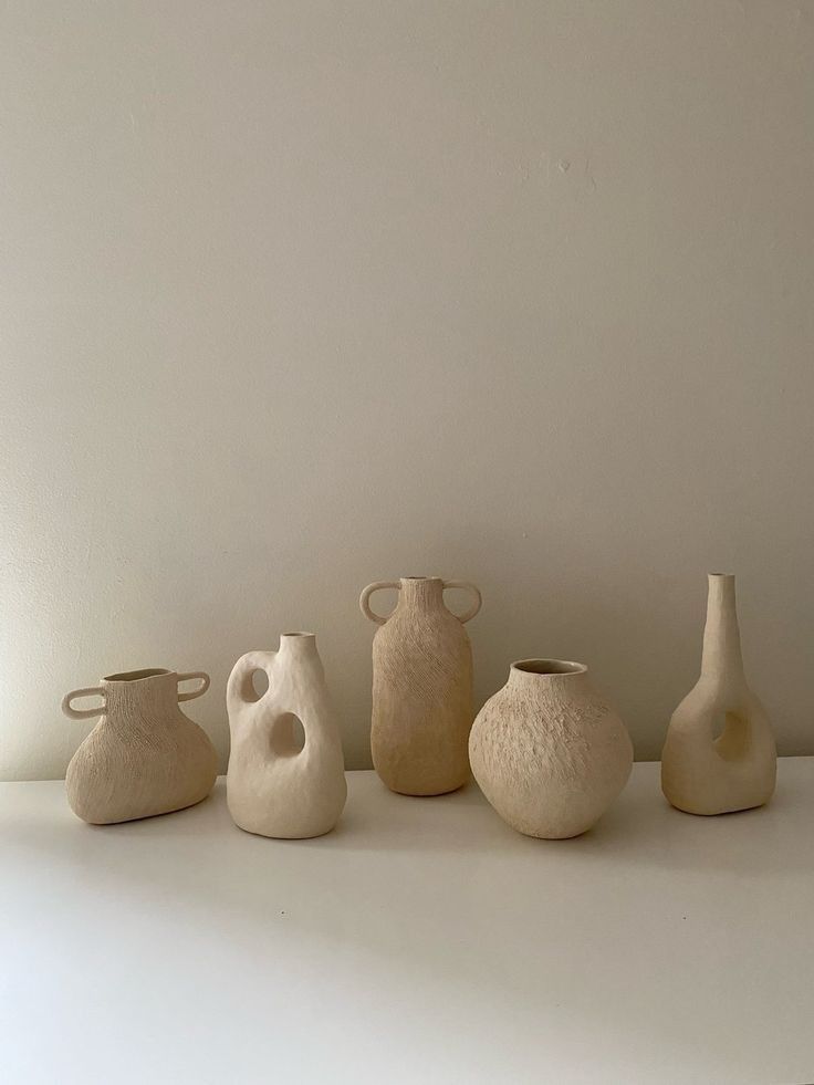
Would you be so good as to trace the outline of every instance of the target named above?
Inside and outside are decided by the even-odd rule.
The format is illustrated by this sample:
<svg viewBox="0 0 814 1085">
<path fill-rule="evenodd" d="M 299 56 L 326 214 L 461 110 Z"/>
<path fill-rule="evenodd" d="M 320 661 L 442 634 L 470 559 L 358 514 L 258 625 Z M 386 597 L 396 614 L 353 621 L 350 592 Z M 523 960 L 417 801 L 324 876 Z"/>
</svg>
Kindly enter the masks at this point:
<svg viewBox="0 0 814 1085">
<path fill-rule="evenodd" d="M 379 588 L 397 588 L 385 618 L 369 606 Z M 449 587 L 474 596 L 466 614 L 443 605 Z M 472 707 L 472 650 L 463 623 L 481 606 L 480 592 L 462 581 L 408 576 L 369 584 L 362 613 L 382 626 L 373 638 L 373 763 L 392 791 L 441 795 L 469 778 L 467 742 Z"/>
</svg>

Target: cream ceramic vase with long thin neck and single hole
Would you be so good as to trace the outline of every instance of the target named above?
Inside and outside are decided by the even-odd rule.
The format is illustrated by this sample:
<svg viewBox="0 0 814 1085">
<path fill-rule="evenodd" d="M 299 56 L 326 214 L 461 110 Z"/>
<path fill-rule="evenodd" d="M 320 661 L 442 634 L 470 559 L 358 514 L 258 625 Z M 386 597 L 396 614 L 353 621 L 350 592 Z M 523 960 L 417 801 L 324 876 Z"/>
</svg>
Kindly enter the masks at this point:
<svg viewBox="0 0 814 1085">
<path fill-rule="evenodd" d="M 661 787 L 689 814 L 726 814 L 768 803 L 776 769 L 771 726 L 743 674 L 734 576 L 710 573 L 701 677 L 672 713 Z"/>
</svg>

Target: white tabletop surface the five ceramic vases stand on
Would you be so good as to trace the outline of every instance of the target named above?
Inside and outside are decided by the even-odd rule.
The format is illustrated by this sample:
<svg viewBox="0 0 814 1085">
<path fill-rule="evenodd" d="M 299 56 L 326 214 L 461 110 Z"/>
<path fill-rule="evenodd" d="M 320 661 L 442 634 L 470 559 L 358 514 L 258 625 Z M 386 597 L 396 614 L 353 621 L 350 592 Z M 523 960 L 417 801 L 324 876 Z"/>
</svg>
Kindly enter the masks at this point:
<svg viewBox="0 0 814 1085">
<path fill-rule="evenodd" d="M 699 818 L 634 766 L 588 835 L 352 773 L 340 827 L 90 828 L 0 786 L 10 1085 L 814 1081 L 814 759 Z"/>
</svg>

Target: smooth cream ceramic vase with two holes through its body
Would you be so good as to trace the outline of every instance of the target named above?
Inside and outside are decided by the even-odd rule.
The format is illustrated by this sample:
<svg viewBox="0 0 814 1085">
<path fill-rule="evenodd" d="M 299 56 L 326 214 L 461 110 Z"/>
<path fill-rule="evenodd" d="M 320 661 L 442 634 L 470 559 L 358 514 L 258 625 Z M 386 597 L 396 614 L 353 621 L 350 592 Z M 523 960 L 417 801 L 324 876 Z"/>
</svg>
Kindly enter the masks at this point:
<svg viewBox="0 0 814 1085">
<path fill-rule="evenodd" d="M 252 676 L 265 671 L 258 696 Z M 345 805 L 342 740 L 313 633 L 284 633 L 279 651 L 249 651 L 231 672 L 227 800 L 247 833 L 286 839 L 331 832 Z M 296 721 L 304 732 L 298 741 Z"/>
</svg>

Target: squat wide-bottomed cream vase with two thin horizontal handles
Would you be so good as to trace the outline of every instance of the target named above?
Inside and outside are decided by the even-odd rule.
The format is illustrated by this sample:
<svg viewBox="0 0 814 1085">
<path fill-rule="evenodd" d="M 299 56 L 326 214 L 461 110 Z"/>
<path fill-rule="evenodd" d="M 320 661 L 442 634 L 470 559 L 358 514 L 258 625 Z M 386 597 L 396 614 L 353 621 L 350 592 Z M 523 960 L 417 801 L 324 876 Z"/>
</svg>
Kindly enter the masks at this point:
<svg viewBox="0 0 814 1085">
<path fill-rule="evenodd" d="M 199 689 L 178 684 L 198 678 Z M 218 755 L 205 731 L 178 708 L 209 688 L 204 671 L 132 670 L 98 686 L 74 689 L 62 700 L 72 720 L 101 720 L 73 755 L 65 786 L 73 812 L 107 825 L 152 817 L 206 799 L 218 774 Z M 100 696 L 100 708 L 75 709 L 80 697 Z"/>
</svg>

